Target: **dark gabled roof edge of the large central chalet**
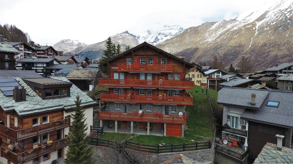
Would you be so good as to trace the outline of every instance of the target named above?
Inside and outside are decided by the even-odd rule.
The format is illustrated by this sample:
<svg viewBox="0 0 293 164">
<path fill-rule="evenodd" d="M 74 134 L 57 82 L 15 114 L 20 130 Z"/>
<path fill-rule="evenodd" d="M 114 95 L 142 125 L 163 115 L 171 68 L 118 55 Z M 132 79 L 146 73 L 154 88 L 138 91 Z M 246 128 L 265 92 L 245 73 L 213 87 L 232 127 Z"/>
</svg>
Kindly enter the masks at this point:
<svg viewBox="0 0 293 164">
<path fill-rule="evenodd" d="M 159 51 L 159 52 L 161 52 L 161 53 L 163 53 L 163 54 L 165 54 L 165 55 L 168 55 L 168 56 L 170 56 L 170 57 L 172 57 L 172 58 L 174 58 L 174 59 L 176 59 L 176 60 L 179 60 L 180 62 L 183 62 L 183 63 L 189 65 L 190 67 L 194 67 L 193 64 L 191 64 L 191 63 L 189 63 L 189 62 L 186 62 L 185 60 L 182 60 L 182 59 L 180 59 L 180 58 L 178 58 L 178 57 L 176 57 L 176 56 L 174 56 L 174 55 L 171 55 L 170 53 L 167 53 L 166 51 L 163 51 L 163 50 L 161 50 L 161 49 L 159 49 L 159 48 L 157 48 L 157 47 L 155 47 L 155 46 L 153 46 L 153 45 L 151 45 L 151 44 L 149 44 L 149 43 L 147 43 L 147 42 L 143 42 L 143 43 L 141 43 L 141 44 L 138 45 L 138 46 L 135 46 L 135 47 L 133 47 L 133 48 L 131 48 L 131 49 L 129 49 L 129 50 L 123 52 L 123 53 L 120 53 L 119 55 L 117 55 L 117 56 L 115 56 L 115 57 L 112 57 L 111 59 L 102 62 L 100 65 L 104 65 L 104 64 L 106 64 L 106 63 L 108 63 L 108 62 L 110 62 L 110 61 L 112 61 L 112 60 L 115 60 L 115 59 L 117 59 L 118 57 L 120 57 L 120 56 L 122 56 L 122 55 L 125 55 L 125 54 L 127 54 L 127 53 L 130 53 L 131 51 L 133 51 L 133 50 L 135 50 L 135 49 L 137 49 L 137 48 L 140 48 L 140 47 L 142 47 L 142 46 L 149 46 L 150 48 L 153 48 L 153 49 L 155 49 L 155 50 L 157 50 L 157 51 Z"/>
</svg>

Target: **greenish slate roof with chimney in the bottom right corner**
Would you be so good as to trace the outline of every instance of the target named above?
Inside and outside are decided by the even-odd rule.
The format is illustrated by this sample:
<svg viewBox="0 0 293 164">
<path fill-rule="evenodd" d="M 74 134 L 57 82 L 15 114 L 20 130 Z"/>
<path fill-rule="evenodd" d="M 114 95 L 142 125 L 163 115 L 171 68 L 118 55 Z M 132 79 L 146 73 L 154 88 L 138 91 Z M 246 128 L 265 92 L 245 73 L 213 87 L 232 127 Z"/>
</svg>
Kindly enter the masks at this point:
<svg viewBox="0 0 293 164">
<path fill-rule="evenodd" d="M 253 164 L 287 164 L 293 163 L 293 149 L 282 147 L 277 149 L 276 144 L 267 142 Z"/>
</svg>

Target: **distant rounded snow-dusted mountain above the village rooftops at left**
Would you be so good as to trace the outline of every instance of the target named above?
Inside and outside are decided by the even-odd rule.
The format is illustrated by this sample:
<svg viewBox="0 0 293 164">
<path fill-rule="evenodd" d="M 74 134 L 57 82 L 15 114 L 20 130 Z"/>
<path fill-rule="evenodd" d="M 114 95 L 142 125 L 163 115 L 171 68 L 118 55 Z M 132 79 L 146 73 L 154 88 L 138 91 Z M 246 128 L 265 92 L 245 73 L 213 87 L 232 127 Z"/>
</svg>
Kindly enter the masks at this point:
<svg viewBox="0 0 293 164">
<path fill-rule="evenodd" d="M 61 41 L 55 43 L 53 48 L 57 51 L 63 51 L 63 53 L 67 53 L 75 50 L 77 47 L 84 48 L 86 46 L 88 46 L 88 44 L 81 43 L 78 40 L 62 39 Z"/>
</svg>

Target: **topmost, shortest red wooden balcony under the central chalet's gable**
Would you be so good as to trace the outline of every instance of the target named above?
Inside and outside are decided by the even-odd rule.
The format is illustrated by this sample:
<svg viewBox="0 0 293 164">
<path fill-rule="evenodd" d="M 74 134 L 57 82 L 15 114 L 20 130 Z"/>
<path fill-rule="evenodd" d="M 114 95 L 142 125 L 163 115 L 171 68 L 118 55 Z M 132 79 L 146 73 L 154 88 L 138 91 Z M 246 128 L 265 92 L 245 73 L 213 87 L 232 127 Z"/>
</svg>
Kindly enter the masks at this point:
<svg viewBox="0 0 293 164">
<path fill-rule="evenodd" d="M 172 72 L 172 64 L 118 64 L 123 72 Z"/>
</svg>

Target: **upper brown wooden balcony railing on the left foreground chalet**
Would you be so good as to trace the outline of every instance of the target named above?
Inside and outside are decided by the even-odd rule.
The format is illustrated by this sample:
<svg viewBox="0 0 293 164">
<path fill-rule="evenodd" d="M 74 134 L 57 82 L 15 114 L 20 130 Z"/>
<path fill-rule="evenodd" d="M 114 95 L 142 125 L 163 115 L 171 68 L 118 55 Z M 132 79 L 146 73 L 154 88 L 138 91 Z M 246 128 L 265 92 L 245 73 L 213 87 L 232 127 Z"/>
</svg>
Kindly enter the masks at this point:
<svg viewBox="0 0 293 164">
<path fill-rule="evenodd" d="M 25 129 L 20 129 L 20 130 L 14 130 L 12 128 L 8 128 L 6 126 L 0 125 L 0 133 L 17 142 L 25 138 L 37 136 L 43 133 L 58 130 L 61 128 L 66 128 L 69 126 L 70 126 L 70 118 L 65 118 L 62 120 L 49 122 L 46 124 L 42 124 L 42 125 L 30 127 L 30 128 L 25 128 Z"/>
</svg>

